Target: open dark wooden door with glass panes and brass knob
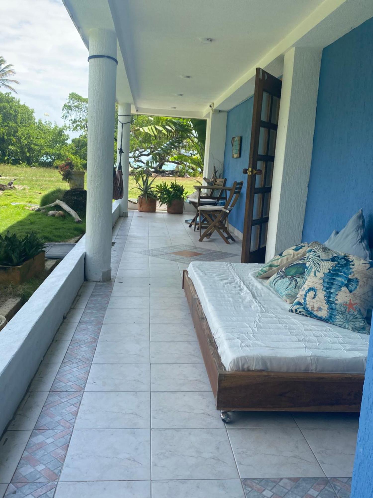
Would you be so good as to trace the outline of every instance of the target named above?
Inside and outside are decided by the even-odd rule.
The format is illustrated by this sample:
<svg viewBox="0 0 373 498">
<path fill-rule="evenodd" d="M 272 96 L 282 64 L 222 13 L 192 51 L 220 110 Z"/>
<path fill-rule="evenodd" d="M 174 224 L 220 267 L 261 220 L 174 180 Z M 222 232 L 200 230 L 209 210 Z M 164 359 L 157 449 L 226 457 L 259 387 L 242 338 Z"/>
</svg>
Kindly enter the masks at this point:
<svg viewBox="0 0 373 498">
<path fill-rule="evenodd" d="M 273 166 L 279 123 L 281 81 L 257 68 L 242 241 L 242 263 L 262 263 L 266 255 Z"/>
</svg>

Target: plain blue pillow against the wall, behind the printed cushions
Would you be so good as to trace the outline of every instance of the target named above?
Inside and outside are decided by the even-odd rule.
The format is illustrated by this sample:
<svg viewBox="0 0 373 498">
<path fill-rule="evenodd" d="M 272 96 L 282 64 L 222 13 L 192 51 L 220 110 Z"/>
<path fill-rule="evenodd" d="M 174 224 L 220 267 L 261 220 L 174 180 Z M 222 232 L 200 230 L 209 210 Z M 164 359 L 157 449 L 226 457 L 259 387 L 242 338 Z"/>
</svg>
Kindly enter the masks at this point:
<svg viewBox="0 0 373 498">
<path fill-rule="evenodd" d="M 339 252 L 371 259 L 363 210 L 358 211 L 339 233 L 334 230 L 324 245 Z"/>
</svg>

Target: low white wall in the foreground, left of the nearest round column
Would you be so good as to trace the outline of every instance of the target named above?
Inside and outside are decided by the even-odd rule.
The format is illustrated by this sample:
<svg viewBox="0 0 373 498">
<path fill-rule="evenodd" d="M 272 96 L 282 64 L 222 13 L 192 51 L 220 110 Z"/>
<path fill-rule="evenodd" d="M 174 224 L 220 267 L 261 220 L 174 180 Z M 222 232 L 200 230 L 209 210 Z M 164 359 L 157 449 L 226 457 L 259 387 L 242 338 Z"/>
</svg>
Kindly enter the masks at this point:
<svg viewBox="0 0 373 498">
<path fill-rule="evenodd" d="M 85 237 L 0 331 L 0 435 L 84 282 Z"/>
</svg>

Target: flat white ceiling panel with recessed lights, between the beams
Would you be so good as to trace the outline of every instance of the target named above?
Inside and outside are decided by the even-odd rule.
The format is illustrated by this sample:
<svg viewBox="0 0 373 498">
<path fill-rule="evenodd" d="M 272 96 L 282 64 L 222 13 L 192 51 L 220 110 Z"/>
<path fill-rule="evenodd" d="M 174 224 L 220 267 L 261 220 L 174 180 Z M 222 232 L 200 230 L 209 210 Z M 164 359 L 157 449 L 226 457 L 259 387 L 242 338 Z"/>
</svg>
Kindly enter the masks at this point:
<svg viewBox="0 0 373 498">
<path fill-rule="evenodd" d="M 109 0 L 136 106 L 187 111 L 204 111 L 320 3 Z"/>
</svg>

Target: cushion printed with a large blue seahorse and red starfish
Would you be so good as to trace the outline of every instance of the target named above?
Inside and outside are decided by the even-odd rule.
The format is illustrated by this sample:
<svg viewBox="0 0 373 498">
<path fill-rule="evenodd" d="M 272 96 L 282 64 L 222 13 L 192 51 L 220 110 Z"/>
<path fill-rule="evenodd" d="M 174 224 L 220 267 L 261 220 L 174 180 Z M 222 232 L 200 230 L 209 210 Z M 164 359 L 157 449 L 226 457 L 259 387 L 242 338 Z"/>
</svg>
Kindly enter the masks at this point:
<svg viewBox="0 0 373 498">
<path fill-rule="evenodd" d="M 373 261 L 312 243 L 304 282 L 289 311 L 369 334 Z"/>
</svg>

